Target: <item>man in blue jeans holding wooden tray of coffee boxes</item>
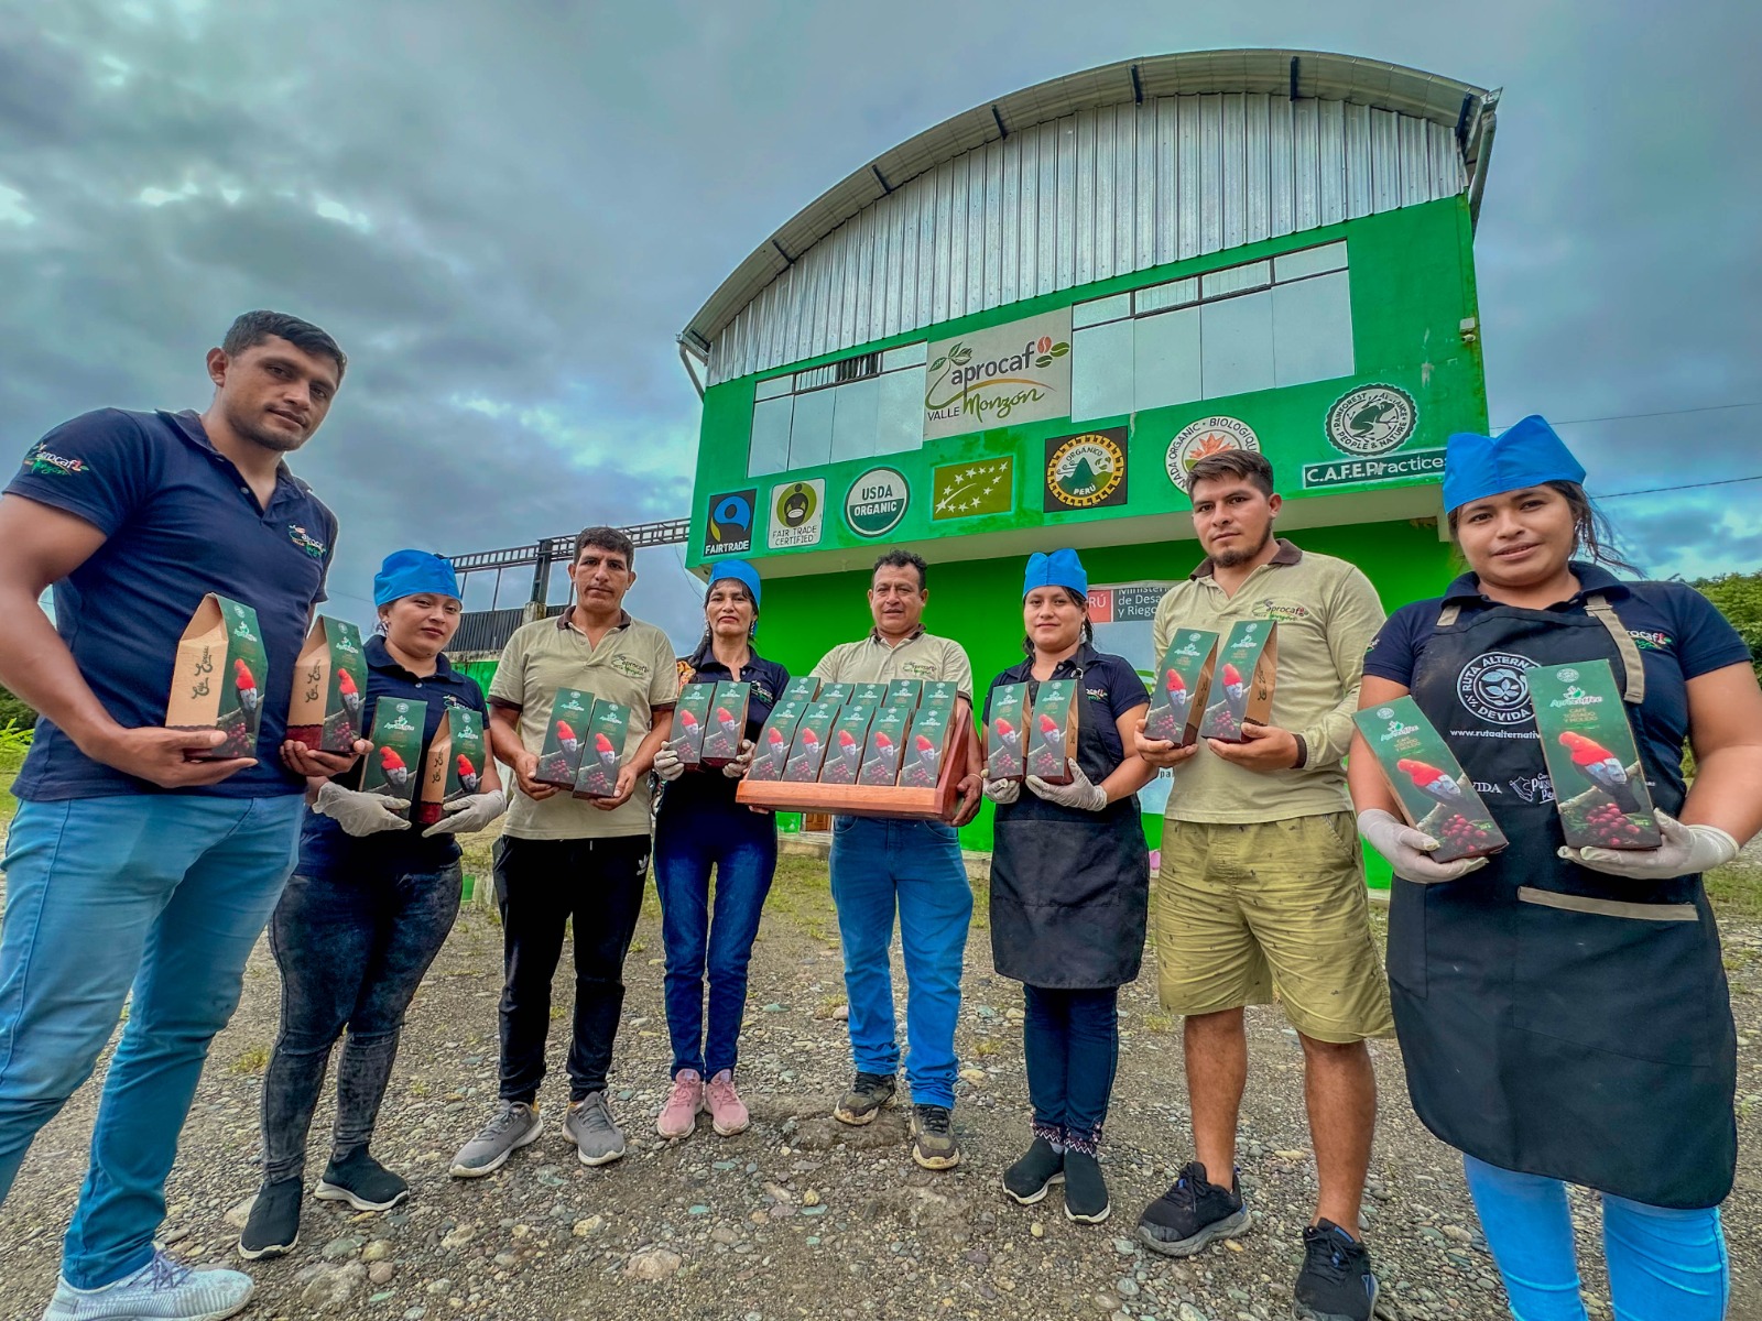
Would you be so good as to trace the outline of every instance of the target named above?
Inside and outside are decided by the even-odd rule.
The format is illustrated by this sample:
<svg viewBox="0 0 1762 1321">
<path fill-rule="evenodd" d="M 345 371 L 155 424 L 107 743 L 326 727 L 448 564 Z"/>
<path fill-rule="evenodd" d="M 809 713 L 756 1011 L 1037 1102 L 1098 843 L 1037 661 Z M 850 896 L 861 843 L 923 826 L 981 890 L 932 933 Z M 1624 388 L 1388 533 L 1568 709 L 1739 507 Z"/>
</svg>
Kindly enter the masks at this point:
<svg viewBox="0 0 1762 1321">
<path fill-rule="evenodd" d="M 869 579 L 874 629 L 858 643 L 826 652 L 814 676 L 826 683 L 883 683 L 922 678 L 953 683 L 967 738 L 967 766 L 981 766 L 973 729 L 973 666 L 957 641 L 923 631 L 927 567 L 911 551 L 888 551 Z M 960 727 L 960 726 L 957 726 Z M 844 988 L 851 1004 L 851 1053 L 856 1078 L 832 1111 L 846 1124 L 867 1124 L 893 1097 L 899 1041 L 893 1023 L 893 912 L 899 911 L 906 958 L 906 1039 L 911 1055 L 913 1159 L 925 1170 L 951 1170 L 960 1147 L 955 1106 L 955 1018 L 960 1015 L 960 967 L 973 918 L 973 888 L 960 860 L 957 826 L 980 807 L 978 770 L 960 780 L 951 823 L 833 817 L 832 900 L 844 944 Z"/>
</svg>

